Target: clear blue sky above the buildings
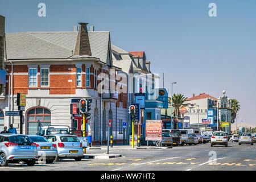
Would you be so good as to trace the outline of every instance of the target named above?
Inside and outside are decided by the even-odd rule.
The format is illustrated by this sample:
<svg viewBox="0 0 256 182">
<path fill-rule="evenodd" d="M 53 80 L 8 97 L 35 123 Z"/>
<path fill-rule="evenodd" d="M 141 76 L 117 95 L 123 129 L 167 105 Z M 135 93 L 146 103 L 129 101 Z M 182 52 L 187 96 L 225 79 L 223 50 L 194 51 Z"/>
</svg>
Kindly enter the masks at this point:
<svg viewBox="0 0 256 182">
<path fill-rule="evenodd" d="M 47 16 L 38 16 L 38 3 Z M 216 3 L 217 17 L 208 16 Z M 31 0 L 1 1 L 6 32 L 73 31 L 78 22 L 110 31 L 126 51 L 145 51 L 164 86 L 186 97 L 222 90 L 240 101 L 238 123 L 256 125 L 255 0 Z M 162 85 L 162 80 L 160 81 Z"/>
</svg>

